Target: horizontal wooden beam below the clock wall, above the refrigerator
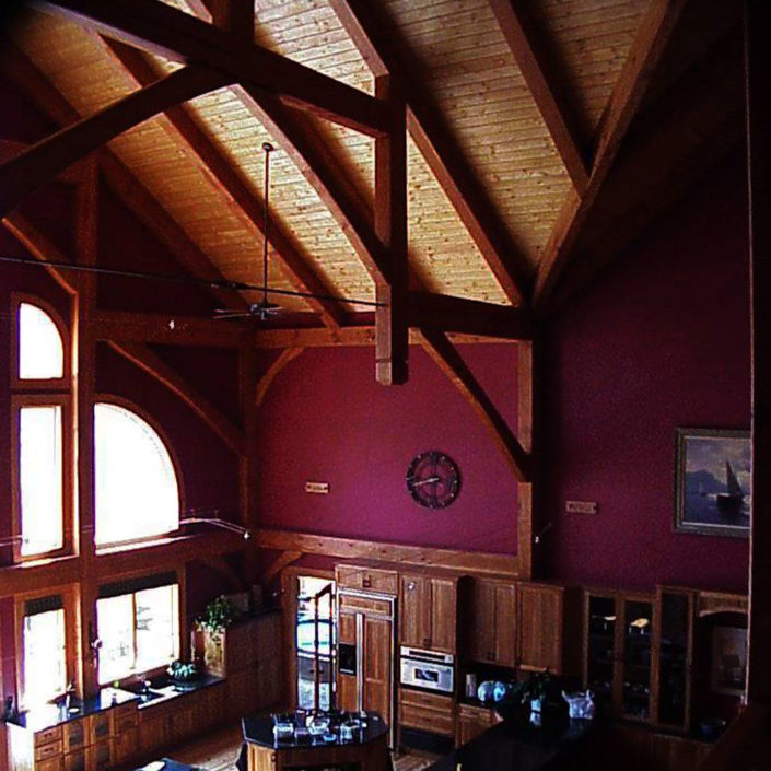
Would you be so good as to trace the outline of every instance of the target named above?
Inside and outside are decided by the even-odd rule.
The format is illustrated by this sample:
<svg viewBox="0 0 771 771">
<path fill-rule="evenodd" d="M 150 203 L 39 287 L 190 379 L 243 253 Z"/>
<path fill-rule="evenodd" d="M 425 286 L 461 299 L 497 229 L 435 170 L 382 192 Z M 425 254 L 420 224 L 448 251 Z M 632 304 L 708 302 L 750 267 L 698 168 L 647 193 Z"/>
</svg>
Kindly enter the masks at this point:
<svg viewBox="0 0 771 771">
<path fill-rule="evenodd" d="M 451 568 L 479 574 L 495 573 L 511 576 L 519 574 L 519 560 L 516 554 L 458 551 L 264 528 L 254 534 L 252 544 L 261 549 L 300 551 L 303 554 L 322 554 L 342 560 L 405 562 L 411 565 Z"/>
</svg>

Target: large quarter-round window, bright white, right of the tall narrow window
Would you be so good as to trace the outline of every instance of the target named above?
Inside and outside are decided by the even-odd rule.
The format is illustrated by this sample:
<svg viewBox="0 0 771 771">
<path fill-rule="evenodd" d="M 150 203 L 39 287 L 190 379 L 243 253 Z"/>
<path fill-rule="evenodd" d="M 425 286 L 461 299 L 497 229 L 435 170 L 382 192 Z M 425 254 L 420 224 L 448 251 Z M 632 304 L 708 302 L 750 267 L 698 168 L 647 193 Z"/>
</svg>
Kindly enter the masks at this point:
<svg viewBox="0 0 771 771">
<path fill-rule="evenodd" d="M 97 546 L 176 530 L 179 488 L 163 440 L 143 418 L 115 404 L 94 406 Z"/>
</svg>

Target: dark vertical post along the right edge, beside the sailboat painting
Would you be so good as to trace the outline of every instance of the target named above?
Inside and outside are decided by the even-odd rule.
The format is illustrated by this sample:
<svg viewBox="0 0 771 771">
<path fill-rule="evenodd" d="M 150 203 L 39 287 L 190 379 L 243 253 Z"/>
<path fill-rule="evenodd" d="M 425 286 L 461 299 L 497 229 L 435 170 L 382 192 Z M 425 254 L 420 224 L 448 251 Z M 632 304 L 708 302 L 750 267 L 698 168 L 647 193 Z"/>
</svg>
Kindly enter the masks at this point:
<svg viewBox="0 0 771 771">
<path fill-rule="evenodd" d="M 771 703 L 771 7 L 747 0 L 747 145 L 752 306 L 752 519 L 747 699 Z"/>
</svg>

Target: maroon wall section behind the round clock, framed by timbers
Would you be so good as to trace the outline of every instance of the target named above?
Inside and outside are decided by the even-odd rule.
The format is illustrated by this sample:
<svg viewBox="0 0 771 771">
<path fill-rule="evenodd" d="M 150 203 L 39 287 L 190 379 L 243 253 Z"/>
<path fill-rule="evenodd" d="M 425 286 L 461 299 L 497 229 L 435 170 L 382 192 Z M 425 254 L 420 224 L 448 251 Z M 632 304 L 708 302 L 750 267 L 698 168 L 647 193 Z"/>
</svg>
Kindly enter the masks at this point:
<svg viewBox="0 0 771 771">
<path fill-rule="evenodd" d="M 511 422 L 516 348 L 463 346 L 463 355 Z M 307 350 L 279 373 L 260 409 L 258 511 L 266 527 L 436 546 L 516 551 L 516 483 L 454 385 L 420 348 L 410 381 L 384 387 L 370 348 Z M 440 449 L 460 467 L 462 490 L 431 511 L 409 497 L 411 458 Z M 330 483 L 328 495 L 304 492 Z"/>
</svg>

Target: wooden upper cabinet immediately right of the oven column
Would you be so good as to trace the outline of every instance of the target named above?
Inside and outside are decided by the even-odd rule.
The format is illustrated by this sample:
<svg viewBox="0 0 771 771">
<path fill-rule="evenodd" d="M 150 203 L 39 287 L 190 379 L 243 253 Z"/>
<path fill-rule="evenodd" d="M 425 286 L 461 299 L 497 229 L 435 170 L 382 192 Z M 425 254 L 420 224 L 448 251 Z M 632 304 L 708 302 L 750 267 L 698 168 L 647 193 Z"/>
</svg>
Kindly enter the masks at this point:
<svg viewBox="0 0 771 771">
<path fill-rule="evenodd" d="M 479 664 L 513 668 L 516 665 L 516 584 L 475 579 L 466 596 L 463 626 L 467 657 Z"/>
</svg>

